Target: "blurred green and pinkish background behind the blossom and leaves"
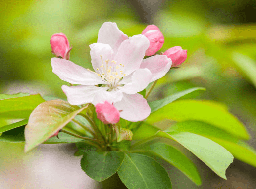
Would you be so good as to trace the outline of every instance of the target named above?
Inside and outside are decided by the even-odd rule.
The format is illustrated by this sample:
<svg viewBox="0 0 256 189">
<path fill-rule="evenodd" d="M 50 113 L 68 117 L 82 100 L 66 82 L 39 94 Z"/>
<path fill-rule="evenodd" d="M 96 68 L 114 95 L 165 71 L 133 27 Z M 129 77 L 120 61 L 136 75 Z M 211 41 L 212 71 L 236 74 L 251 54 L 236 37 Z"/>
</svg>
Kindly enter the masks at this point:
<svg viewBox="0 0 256 189">
<path fill-rule="evenodd" d="M 71 61 L 92 68 L 89 44 L 97 41 L 103 22 L 116 22 L 128 36 L 140 34 L 147 24 L 155 24 L 165 37 L 161 51 L 182 46 L 188 50 L 188 58 L 181 68 L 172 69 L 158 81 L 150 99 L 194 86 L 205 87 L 205 92 L 194 92 L 183 98 L 227 104 L 230 112 L 248 128 L 249 144 L 256 148 L 255 0 L 1 0 L 0 10 L 0 93 L 22 91 L 65 97 L 61 91 L 65 82 L 54 75 L 51 68 L 50 38 L 54 33 L 62 32 L 69 39 L 73 47 Z M 56 179 L 54 184 L 61 186 L 57 188 L 93 188 L 88 185 L 91 180 L 84 182 L 83 179 L 88 178 L 83 172 L 72 187 L 60 185 L 68 178 L 64 179 L 50 166 L 53 160 L 62 162 L 60 167 L 67 166 L 73 159 L 72 145 L 42 146 L 47 147 L 24 154 L 24 144 L 0 142 L 0 186 L 3 186 L 0 188 L 51 189 L 53 181 L 48 180 L 49 186 L 37 182 L 47 180 L 51 174 Z M 38 164 L 29 166 L 31 161 L 41 164 L 39 159 L 43 155 L 50 157 L 44 162 L 44 170 L 46 166 L 49 169 L 31 176 L 31 171 L 38 167 Z M 169 167 L 174 189 L 256 188 L 256 168 L 252 166 L 235 160 L 227 170 L 225 181 L 192 154 L 188 155 L 197 164 L 203 185 L 196 186 L 181 172 Z M 58 160 L 63 158 L 66 161 Z M 79 158 L 75 161 L 78 168 L 72 169 L 74 174 L 81 171 Z M 29 179 L 35 185 L 28 185 Z"/>
</svg>

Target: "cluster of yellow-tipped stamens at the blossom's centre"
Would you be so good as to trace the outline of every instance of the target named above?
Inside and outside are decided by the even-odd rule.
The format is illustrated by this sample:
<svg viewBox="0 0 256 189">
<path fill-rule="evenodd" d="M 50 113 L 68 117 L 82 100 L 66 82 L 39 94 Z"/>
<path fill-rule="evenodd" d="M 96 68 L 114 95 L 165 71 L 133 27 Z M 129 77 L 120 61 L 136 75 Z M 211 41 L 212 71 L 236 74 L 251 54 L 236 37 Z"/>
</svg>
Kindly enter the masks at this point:
<svg viewBox="0 0 256 189">
<path fill-rule="evenodd" d="M 102 56 L 101 56 L 102 59 Z M 108 82 L 109 91 L 118 89 L 119 81 L 125 76 L 123 71 L 124 65 L 118 64 L 117 61 L 112 60 L 109 62 L 109 60 L 103 61 L 102 59 L 102 65 L 100 68 L 96 68 L 96 74 L 98 76 L 101 76 L 103 81 Z"/>
</svg>

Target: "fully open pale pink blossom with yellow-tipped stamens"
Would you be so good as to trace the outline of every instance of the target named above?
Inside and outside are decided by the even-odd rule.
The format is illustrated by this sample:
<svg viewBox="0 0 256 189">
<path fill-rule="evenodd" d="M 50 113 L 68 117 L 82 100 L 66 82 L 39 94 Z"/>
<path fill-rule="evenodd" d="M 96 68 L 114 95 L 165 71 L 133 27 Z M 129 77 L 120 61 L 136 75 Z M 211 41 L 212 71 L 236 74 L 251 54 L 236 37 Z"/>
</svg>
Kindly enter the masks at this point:
<svg viewBox="0 0 256 189">
<path fill-rule="evenodd" d="M 150 41 L 144 35 L 128 37 L 116 23 L 105 22 L 99 30 L 97 43 L 91 44 L 94 71 L 71 61 L 52 58 L 52 71 L 60 79 L 77 86 L 62 86 L 72 105 L 113 103 L 120 117 L 129 121 L 146 119 L 151 109 L 138 92 L 164 76 L 171 59 L 155 55 L 143 59 Z"/>
</svg>

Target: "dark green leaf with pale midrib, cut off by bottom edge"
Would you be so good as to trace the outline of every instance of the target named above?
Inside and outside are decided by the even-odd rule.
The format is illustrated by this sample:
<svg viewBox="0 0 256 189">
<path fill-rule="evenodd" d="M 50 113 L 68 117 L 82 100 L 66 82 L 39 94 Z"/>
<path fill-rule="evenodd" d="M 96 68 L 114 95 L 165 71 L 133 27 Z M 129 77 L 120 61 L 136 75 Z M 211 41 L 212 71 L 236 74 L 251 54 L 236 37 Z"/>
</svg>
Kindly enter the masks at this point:
<svg viewBox="0 0 256 189">
<path fill-rule="evenodd" d="M 171 189 L 171 180 L 164 168 L 154 159 L 137 153 L 125 153 L 117 171 L 128 189 Z"/>
</svg>

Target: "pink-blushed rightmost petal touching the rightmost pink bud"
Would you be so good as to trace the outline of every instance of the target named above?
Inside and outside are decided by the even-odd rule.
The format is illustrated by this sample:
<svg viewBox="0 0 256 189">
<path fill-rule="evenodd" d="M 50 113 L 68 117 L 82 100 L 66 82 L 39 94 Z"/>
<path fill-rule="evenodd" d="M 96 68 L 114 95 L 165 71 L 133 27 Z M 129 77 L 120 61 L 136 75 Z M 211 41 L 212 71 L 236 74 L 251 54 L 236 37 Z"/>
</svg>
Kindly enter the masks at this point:
<svg viewBox="0 0 256 189">
<path fill-rule="evenodd" d="M 171 59 L 165 55 L 155 55 L 146 58 L 141 63 L 141 68 L 148 68 L 152 73 L 150 82 L 163 77 L 171 68 Z"/>
</svg>

